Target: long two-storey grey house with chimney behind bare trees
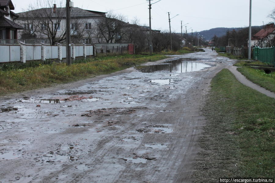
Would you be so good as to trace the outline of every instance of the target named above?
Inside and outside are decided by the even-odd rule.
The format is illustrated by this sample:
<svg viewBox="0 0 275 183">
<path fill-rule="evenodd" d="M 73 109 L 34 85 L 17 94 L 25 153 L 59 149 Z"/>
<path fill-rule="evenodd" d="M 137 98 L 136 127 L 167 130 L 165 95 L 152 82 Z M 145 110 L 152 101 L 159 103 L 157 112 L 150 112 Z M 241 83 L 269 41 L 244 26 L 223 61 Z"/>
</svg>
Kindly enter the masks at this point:
<svg viewBox="0 0 275 183">
<path fill-rule="evenodd" d="M 45 39 L 50 40 L 50 44 L 65 40 L 66 8 L 57 8 L 53 4 L 53 8 L 34 9 L 18 15 L 20 17 L 16 22 L 24 27 L 18 34 L 20 38 Z M 72 42 L 95 42 L 98 39 L 94 31 L 95 23 L 105 16 L 105 12 L 71 7 Z"/>
</svg>

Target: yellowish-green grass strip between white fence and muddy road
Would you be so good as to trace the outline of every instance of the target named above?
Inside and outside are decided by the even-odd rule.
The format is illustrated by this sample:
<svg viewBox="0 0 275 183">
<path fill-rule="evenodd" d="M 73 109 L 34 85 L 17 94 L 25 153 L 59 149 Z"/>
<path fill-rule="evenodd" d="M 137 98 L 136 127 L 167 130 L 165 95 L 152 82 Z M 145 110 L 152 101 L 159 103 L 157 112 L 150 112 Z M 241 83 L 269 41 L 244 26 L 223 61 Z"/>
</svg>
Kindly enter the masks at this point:
<svg viewBox="0 0 275 183">
<path fill-rule="evenodd" d="M 0 70 L 0 95 L 108 74 L 130 66 L 165 59 L 164 55 L 105 56 L 64 63 L 39 64 L 23 69 Z"/>
</svg>

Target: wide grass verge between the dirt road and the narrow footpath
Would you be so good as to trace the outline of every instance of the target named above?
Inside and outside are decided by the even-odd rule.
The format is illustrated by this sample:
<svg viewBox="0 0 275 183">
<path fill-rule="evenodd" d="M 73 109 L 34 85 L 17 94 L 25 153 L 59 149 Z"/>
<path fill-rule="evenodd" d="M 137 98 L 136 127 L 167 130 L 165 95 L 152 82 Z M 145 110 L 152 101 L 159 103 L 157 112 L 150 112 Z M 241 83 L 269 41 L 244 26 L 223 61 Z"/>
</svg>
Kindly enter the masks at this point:
<svg viewBox="0 0 275 183">
<path fill-rule="evenodd" d="M 194 182 L 220 177 L 273 177 L 275 100 L 244 86 L 223 69 L 211 81 L 204 106 Z"/>
</svg>

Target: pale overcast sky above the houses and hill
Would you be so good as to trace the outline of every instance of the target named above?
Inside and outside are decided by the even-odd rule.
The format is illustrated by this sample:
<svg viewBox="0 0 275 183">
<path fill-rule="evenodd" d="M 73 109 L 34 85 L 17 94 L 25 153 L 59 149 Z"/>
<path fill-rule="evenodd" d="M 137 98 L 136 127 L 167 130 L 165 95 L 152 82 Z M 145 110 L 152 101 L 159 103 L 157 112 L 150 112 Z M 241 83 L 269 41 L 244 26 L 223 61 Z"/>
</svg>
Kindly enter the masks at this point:
<svg viewBox="0 0 275 183">
<path fill-rule="evenodd" d="M 36 0 L 12 0 L 15 12 L 22 12 Z M 43 1 L 43 0 L 41 0 Z M 58 0 L 56 0 L 58 1 Z M 149 25 L 149 9 L 146 0 L 71 0 L 74 7 L 93 11 L 122 14 L 126 22 L 137 17 L 140 24 Z M 216 27 L 248 27 L 249 0 L 151 0 L 152 29 L 168 31 L 168 13 L 171 19 L 171 31 L 181 32 L 187 24 L 187 32 L 208 30 Z M 252 0 L 252 26 L 269 23 L 267 18 L 275 8 L 275 0 Z M 189 30 L 188 30 L 189 29 Z M 185 31 L 185 26 L 183 30 Z"/>
</svg>

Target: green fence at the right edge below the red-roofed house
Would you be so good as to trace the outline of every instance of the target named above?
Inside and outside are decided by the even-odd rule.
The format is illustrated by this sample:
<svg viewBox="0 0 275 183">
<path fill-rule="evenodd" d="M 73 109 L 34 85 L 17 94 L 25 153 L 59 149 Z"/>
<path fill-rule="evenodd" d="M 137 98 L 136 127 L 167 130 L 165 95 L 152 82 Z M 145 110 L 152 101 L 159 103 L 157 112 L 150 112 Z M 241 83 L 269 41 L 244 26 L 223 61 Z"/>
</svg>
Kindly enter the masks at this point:
<svg viewBox="0 0 275 183">
<path fill-rule="evenodd" d="M 259 48 L 255 47 L 253 50 L 253 59 L 273 65 L 275 67 L 275 47 L 273 48 Z"/>
</svg>

